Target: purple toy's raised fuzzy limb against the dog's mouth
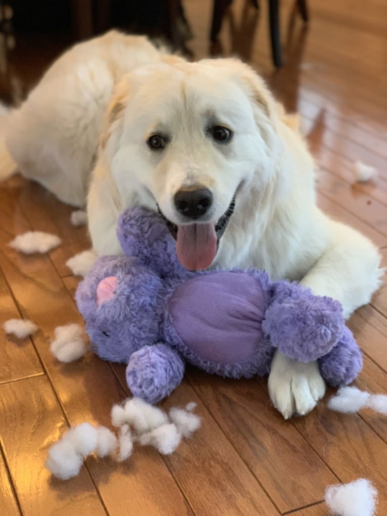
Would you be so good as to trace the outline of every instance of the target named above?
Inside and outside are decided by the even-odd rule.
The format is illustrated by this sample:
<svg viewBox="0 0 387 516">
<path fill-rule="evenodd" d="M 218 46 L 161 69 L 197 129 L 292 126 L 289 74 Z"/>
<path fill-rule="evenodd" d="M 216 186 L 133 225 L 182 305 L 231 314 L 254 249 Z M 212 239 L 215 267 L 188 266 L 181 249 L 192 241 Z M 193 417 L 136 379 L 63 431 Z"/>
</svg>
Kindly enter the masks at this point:
<svg viewBox="0 0 387 516">
<path fill-rule="evenodd" d="M 166 277 L 184 271 L 176 257 L 175 241 L 162 218 L 146 208 L 127 209 L 118 220 L 117 236 L 126 256 Z"/>
</svg>

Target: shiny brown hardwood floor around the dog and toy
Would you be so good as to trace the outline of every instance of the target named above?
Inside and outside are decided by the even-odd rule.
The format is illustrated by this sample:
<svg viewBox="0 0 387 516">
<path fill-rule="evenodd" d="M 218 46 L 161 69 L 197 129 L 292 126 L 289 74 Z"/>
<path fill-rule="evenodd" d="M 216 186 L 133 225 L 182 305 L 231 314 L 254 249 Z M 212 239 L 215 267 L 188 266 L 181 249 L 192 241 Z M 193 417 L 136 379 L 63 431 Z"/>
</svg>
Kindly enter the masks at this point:
<svg viewBox="0 0 387 516">
<path fill-rule="evenodd" d="M 210 49 L 212 2 L 185 0 L 195 35 L 188 46 L 195 58 L 237 53 L 263 74 L 287 109 L 300 113 L 320 169 L 319 205 L 372 238 L 387 265 L 387 4 L 309 0 L 305 26 L 293 1 L 282 0 L 280 70 L 271 63 L 267 2 L 258 13 L 251 4 L 234 0 Z M 36 54 L 35 68 L 29 58 L 24 64 L 18 46 L 10 55 L 0 83 L 4 99 L 4 85 L 27 89 L 54 57 L 41 44 L 42 52 L 21 50 L 29 58 Z M 376 183 L 354 183 L 358 159 L 377 167 Z M 79 278 L 66 261 L 89 241 L 85 228 L 71 225 L 72 209 L 18 175 L 0 183 L 1 322 L 25 317 L 40 328 L 22 342 L 0 331 L 2 515 L 322 516 L 325 488 L 362 476 L 375 482 L 378 514 L 387 514 L 385 416 L 370 410 L 337 414 L 324 400 L 308 416 L 284 421 L 270 405 L 265 380 L 224 380 L 192 368 L 163 405 L 196 401 L 203 424 L 173 455 L 140 448 L 126 463 L 89 458 L 78 477 L 51 478 L 44 461 L 63 430 L 83 421 L 109 425 L 112 404 L 128 395 L 123 366 L 90 352 L 60 364 L 49 350 L 56 326 L 81 321 L 73 301 Z M 36 256 L 7 247 L 30 229 L 57 234 L 63 243 Z M 387 394 L 386 286 L 349 326 L 364 351 L 356 385 Z"/>
</svg>

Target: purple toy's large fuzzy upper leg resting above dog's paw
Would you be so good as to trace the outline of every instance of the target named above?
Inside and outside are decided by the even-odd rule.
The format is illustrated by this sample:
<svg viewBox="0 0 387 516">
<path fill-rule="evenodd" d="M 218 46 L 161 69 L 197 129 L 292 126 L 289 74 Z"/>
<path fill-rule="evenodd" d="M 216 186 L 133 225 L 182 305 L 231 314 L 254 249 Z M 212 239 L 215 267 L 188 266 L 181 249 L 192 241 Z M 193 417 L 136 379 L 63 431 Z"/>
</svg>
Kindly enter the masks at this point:
<svg viewBox="0 0 387 516">
<path fill-rule="evenodd" d="M 341 304 L 287 281 L 273 282 L 262 324 L 271 344 L 287 357 L 312 362 L 337 343 L 345 328 Z"/>
</svg>

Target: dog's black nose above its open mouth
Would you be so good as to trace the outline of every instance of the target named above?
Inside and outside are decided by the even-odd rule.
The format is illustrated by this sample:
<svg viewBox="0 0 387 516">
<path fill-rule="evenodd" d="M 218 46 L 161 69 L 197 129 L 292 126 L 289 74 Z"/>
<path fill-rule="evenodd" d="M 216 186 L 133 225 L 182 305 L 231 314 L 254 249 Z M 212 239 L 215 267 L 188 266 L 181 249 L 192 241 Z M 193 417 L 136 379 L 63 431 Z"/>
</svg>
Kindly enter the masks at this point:
<svg viewBox="0 0 387 516">
<path fill-rule="evenodd" d="M 195 185 L 178 190 L 173 200 L 179 213 L 196 220 L 207 212 L 213 196 L 208 188 Z"/>
</svg>

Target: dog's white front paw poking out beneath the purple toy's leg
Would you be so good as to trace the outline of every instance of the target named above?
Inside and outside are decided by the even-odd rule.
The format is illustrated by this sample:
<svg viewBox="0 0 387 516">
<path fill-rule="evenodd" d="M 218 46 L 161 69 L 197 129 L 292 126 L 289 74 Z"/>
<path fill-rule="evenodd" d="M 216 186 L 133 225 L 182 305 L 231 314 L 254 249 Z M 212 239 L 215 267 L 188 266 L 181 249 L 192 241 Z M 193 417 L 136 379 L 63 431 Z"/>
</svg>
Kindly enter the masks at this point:
<svg viewBox="0 0 387 516">
<path fill-rule="evenodd" d="M 279 351 L 271 364 L 268 388 L 273 405 L 285 419 L 308 414 L 325 394 L 317 362 L 303 364 Z"/>
</svg>

